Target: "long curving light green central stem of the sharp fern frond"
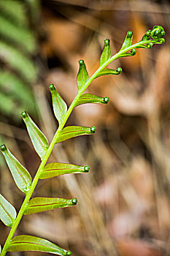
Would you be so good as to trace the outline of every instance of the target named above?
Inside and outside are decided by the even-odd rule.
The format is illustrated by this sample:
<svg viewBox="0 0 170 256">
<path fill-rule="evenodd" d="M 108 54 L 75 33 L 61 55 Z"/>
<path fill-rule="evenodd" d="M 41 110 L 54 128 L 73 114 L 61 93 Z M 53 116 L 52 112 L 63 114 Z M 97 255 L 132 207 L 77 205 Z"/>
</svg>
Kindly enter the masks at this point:
<svg viewBox="0 0 170 256">
<path fill-rule="evenodd" d="M 39 176 L 40 176 L 40 173 L 41 171 L 43 170 L 43 168 L 45 167 L 45 164 L 47 162 L 47 159 L 50 157 L 50 154 L 53 150 L 53 147 L 55 146 L 55 141 L 56 139 L 58 138 L 58 132 L 61 131 L 61 129 L 63 129 L 64 125 L 66 124 L 66 121 L 68 120 L 70 114 L 72 113 L 72 110 L 74 109 L 75 105 L 76 105 L 76 102 L 77 100 L 80 98 L 80 96 L 83 94 L 83 92 L 88 88 L 88 86 L 90 85 L 90 83 L 96 78 L 96 75 L 98 75 L 99 72 L 101 72 L 102 69 L 104 69 L 105 67 L 108 66 L 108 64 L 110 64 L 112 61 L 114 61 L 115 59 L 118 59 L 120 58 L 120 55 L 123 54 L 123 53 L 126 53 L 128 50 L 131 50 L 133 48 L 136 48 L 136 46 L 139 46 L 139 45 L 144 45 L 144 44 L 147 44 L 147 42 L 150 42 L 150 41 L 142 41 L 142 42 L 138 42 L 136 43 L 135 45 L 131 45 L 130 47 L 128 48 L 125 48 L 124 50 L 121 50 L 119 53 L 116 53 L 114 56 L 112 56 L 112 58 L 108 59 L 108 61 L 106 61 L 101 67 L 99 67 L 95 73 L 93 73 L 93 75 L 88 79 L 88 81 L 85 83 L 84 86 L 82 86 L 82 89 L 80 89 L 80 91 L 78 91 L 78 94 L 77 96 L 74 98 L 72 104 L 70 105 L 69 109 L 67 110 L 66 112 L 66 115 L 63 117 L 63 121 L 61 122 L 61 124 L 59 125 L 57 131 L 55 132 L 55 135 L 53 137 L 53 140 L 51 141 L 50 143 L 50 146 L 49 148 L 47 149 L 47 152 L 45 154 L 45 158 L 42 160 L 41 164 L 39 165 L 39 169 L 37 170 L 36 172 L 36 175 L 34 177 L 34 180 L 31 184 L 31 188 L 30 190 L 28 191 L 28 193 L 26 194 L 26 197 L 25 197 L 25 200 L 23 201 L 23 204 L 22 206 L 20 207 L 20 211 L 18 213 L 18 216 L 17 218 L 15 219 L 15 222 L 13 223 L 12 225 L 12 228 L 9 232 L 9 236 L 7 237 L 7 240 L 4 244 L 4 247 L 1 251 L 1 256 L 5 256 L 6 253 L 7 253 L 7 247 L 10 243 L 10 241 L 12 240 L 14 234 L 15 234 L 15 230 L 17 229 L 19 223 L 20 223 L 20 220 L 22 219 L 23 217 L 23 213 L 26 209 L 26 206 L 31 198 L 31 195 L 33 194 L 34 192 L 34 189 L 36 187 L 36 184 L 37 182 L 39 181 Z"/>
</svg>

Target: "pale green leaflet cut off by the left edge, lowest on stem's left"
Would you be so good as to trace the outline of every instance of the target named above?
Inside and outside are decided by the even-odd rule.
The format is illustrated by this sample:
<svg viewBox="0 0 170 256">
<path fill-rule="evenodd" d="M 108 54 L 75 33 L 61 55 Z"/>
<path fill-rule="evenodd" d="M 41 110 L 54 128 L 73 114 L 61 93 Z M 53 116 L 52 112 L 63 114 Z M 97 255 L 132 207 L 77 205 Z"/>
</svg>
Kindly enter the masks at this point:
<svg viewBox="0 0 170 256">
<path fill-rule="evenodd" d="M 1 194 L 0 194 L 0 219 L 4 222 L 4 225 L 12 227 L 12 224 L 17 216 L 14 206 L 12 206 Z"/>
</svg>

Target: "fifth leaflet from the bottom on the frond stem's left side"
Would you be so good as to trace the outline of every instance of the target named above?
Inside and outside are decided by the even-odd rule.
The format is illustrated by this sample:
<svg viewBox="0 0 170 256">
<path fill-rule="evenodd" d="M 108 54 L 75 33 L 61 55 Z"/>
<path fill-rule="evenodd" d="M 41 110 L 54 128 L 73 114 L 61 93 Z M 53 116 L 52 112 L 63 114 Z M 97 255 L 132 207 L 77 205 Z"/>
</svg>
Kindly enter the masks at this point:
<svg viewBox="0 0 170 256">
<path fill-rule="evenodd" d="M 85 62 L 82 59 L 79 61 L 79 64 L 80 64 L 80 68 L 77 75 L 77 86 L 78 86 L 78 89 L 80 90 L 88 80 L 88 71 L 85 67 Z"/>
</svg>

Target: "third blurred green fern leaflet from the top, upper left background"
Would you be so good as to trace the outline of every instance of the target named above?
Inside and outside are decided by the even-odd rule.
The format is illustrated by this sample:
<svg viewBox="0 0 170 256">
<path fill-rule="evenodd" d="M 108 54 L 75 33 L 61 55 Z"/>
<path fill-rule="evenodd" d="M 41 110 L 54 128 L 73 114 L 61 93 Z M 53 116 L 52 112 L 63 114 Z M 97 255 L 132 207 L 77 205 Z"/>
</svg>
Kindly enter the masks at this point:
<svg viewBox="0 0 170 256">
<path fill-rule="evenodd" d="M 36 67 L 28 56 L 20 53 L 20 50 L 0 41 L 0 58 L 12 69 L 16 69 L 28 83 L 36 80 Z"/>
</svg>

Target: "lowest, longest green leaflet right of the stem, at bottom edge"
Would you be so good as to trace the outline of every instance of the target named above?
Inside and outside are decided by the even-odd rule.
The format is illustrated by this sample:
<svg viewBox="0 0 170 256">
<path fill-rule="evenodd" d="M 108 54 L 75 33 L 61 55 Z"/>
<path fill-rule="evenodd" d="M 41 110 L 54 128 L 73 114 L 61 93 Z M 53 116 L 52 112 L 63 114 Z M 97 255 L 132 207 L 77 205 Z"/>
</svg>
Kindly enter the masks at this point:
<svg viewBox="0 0 170 256">
<path fill-rule="evenodd" d="M 36 236 L 15 236 L 7 247 L 8 252 L 23 252 L 23 251 L 37 251 L 49 252 L 53 255 L 72 255 L 72 252 L 66 251 L 56 244 L 47 241 L 46 239 Z"/>
</svg>

